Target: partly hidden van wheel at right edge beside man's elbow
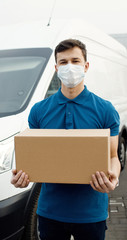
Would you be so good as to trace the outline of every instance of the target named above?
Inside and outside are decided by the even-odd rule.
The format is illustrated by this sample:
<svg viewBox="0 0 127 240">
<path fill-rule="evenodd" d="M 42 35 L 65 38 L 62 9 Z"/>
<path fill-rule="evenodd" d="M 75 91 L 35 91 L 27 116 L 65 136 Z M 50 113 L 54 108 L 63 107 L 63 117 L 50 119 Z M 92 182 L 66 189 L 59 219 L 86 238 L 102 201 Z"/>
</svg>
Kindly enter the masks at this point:
<svg viewBox="0 0 127 240">
<path fill-rule="evenodd" d="M 119 160 L 120 160 L 121 171 L 122 171 L 126 163 L 126 143 L 123 137 L 120 138 Z"/>
</svg>

